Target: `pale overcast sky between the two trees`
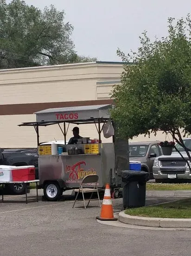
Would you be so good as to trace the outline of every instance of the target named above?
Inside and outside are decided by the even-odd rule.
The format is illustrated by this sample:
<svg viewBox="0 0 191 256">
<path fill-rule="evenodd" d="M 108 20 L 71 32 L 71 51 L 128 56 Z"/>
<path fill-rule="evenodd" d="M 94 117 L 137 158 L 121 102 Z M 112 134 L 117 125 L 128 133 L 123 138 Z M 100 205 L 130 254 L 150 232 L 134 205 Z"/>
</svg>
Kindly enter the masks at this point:
<svg viewBox="0 0 191 256">
<path fill-rule="evenodd" d="M 191 0 L 25 0 L 44 8 L 54 4 L 65 10 L 74 26 L 72 38 L 80 55 L 99 61 L 121 61 L 117 47 L 128 53 L 139 47 L 139 35 L 166 36 L 167 18 L 185 17 Z"/>
</svg>

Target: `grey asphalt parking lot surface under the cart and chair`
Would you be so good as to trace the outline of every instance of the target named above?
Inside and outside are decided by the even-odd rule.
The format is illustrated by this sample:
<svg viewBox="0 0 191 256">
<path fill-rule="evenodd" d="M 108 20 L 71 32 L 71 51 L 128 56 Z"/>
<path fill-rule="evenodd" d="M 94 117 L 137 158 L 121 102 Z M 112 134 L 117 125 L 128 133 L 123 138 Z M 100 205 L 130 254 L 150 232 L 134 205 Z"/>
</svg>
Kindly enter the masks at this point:
<svg viewBox="0 0 191 256">
<path fill-rule="evenodd" d="M 29 200 L 35 200 L 29 194 Z M 0 202 L 0 255 L 2 256 L 190 256 L 191 231 L 140 230 L 106 226 L 96 222 L 97 201 L 83 208 L 73 198 L 65 202 L 29 202 L 25 195 L 6 195 Z M 171 197 L 147 197 L 146 204 Z M 41 200 L 41 196 L 39 196 Z M 122 198 L 114 199 L 114 212 Z"/>
</svg>

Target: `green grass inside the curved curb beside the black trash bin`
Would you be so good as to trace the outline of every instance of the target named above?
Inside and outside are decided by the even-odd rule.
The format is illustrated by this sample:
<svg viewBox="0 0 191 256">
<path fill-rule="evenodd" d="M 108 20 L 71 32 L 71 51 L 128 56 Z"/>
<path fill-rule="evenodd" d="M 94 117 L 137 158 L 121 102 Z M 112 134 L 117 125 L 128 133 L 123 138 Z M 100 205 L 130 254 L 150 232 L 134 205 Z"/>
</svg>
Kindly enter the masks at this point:
<svg viewBox="0 0 191 256">
<path fill-rule="evenodd" d="M 126 209 L 125 213 L 132 216 L 144 217 L 191 218 L 191 198 L 156 206 Z"/>
</svg>

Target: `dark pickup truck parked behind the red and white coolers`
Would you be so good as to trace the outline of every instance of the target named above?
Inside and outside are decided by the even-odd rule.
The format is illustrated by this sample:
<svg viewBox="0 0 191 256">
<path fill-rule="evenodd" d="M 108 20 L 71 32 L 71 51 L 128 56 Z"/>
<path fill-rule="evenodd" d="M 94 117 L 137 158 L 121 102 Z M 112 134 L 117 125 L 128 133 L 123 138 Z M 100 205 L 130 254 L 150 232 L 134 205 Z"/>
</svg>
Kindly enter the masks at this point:
<svg viewBox="0 0 191 256">
<path fill-rule="evenodd" d="M 0 165 L 25 166 L 34 165 L 38 167 L 38 155 L 36 149 L 1 149 Z M 24 183 L 7 184 L 6 189 L 16 195 L 25 191 Z"/>
</svg>

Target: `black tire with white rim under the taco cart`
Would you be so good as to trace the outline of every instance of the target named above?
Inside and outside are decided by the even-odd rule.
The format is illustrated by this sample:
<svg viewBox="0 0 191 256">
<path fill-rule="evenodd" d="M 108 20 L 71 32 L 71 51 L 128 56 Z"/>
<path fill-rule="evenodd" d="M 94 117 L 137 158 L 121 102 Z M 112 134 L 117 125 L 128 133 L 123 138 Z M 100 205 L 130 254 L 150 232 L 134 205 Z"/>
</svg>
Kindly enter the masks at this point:
<svg viewBox="0 0 191 256">
<path fill-rule="evenodd" d="M 62 190 L 57 182 L 49 182 L 45 184 L 44 195 L 48 201 L 57 201 L 62 195 Z"/>
</svg>

